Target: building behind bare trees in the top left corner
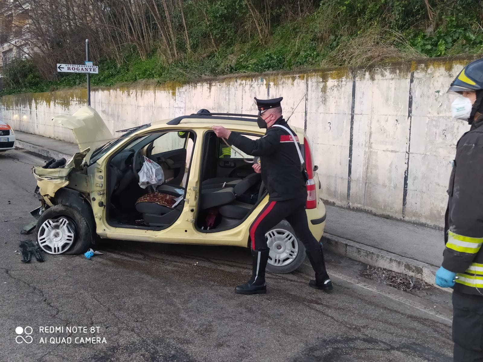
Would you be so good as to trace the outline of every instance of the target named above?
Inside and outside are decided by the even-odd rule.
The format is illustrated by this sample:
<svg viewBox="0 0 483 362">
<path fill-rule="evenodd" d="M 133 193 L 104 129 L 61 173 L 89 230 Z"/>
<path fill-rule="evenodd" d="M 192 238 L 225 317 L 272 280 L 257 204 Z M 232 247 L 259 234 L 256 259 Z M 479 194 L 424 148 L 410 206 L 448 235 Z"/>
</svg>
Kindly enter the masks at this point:
<svg viewBox="0 0 483 362">
<path fill-rule="evenodd" d="M 28 0 L 0 1 L 0 65 L 2 67 L 27 54 L 28 42 L 25 35 L 30 23 L 29 9 Z"/>
</svg>

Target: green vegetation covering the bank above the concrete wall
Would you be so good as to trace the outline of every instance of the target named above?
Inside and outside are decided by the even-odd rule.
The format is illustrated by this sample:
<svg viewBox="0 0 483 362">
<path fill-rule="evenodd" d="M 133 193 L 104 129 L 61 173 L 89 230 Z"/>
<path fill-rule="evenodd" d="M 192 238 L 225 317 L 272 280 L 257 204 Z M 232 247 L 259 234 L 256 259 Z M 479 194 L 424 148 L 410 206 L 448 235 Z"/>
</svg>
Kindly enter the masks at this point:
<svg viewBox="0 0 483 362">
<path fill-rule="evenodd" d="M 183 82 L 231 73 L 357 66 L 483 51 L 481 0 L 254 2 L 180 1 L 170 15 L 163 15 L 173 28 L 169 43 L 152 36 L 149 44 L 142 39 L 115 44 L 115 55 L 98 51 L 94 61 L 99 75 L 91 77 L 91 84 Z M 160 9 L 161 4 L 166 2 L 159 3 Z M 148 15 L 143 13 L 143 18 L 147 21 Z M 57 61 L 62 62 L 62 57 Z M 85 84 L 84 74 L 46 72 L 33 60 L 14 61 L 1 73 L 0 95 Z"/>
</svg>

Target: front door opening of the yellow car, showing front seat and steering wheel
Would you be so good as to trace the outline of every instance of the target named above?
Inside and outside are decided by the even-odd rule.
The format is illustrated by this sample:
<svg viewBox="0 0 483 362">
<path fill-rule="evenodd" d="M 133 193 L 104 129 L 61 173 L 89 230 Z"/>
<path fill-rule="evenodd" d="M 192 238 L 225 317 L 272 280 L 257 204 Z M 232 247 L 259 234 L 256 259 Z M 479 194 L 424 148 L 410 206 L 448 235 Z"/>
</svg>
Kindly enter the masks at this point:
<svg viewBox="0 0 483 362">
<path fill-rule="evenodd" d="M 106 172 L 107 222 L 116 227 L 156 230 L 174 223 L 185 207 L 195 139 L 196 134 L 188 130 L 153 132 L 133 139 L 115 153 Z M 139 172 L 145 159 L 161 168 L 161 184 L 140 186 Z"/>
</svg>

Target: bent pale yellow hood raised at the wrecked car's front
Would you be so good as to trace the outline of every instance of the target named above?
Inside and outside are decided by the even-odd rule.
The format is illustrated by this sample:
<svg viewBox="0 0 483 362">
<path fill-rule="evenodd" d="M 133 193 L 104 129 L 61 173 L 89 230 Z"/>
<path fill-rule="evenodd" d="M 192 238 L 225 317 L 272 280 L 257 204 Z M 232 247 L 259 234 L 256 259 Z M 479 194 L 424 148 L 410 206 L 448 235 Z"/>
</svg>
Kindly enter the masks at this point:
<svg viewBox="0 0 483 362">
<path fill-rule="evenodd" d="M 100 118 L 99 113 L 89 106 L 82 107 L 71 116 L 56 116 L 54 123 L 72 130 L 79 145 L 79 150 L 90 148 L 85 156 L 86 162 L 89 162 L 90 156 L 96 148 L 114 138 Z"/>
</svg>

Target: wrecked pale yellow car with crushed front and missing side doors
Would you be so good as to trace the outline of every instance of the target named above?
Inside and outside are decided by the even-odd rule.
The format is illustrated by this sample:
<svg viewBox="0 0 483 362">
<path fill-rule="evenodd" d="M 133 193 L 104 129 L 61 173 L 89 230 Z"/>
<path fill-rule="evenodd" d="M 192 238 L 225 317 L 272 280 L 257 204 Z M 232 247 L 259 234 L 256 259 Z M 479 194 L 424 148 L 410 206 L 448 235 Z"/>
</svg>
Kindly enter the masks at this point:
<svg viewBox="0 0 483 362">
<path fill-rule="evenodd" d="M 212 125 L 224 125 L 252 139 L 263 136 L 256 115 L 210 113 L 153 121 L 117 131 L 114 138 L 99 114 L 83 107 L 54 122 L 70 128 L 79 153 L 32 172 L 41 207 L 37 243 L 50 254 L 79 254 L 98 237 L 160 243 L 249 246 L 249 226 L 268 202 L 257 158 L 216 137 Z M 319 240 L 326 210 L 310 144 L 301 140 L 309 182 L 307 218 Z M 303 142 L 302 142 L 303 141 Z M 140 187 L 145 160 L 162 169 L 163 182 Z M 282 221 L 267 235 L 271 272 L 288 273 L 305 259 L 290 225 Z"/>
</svg>

